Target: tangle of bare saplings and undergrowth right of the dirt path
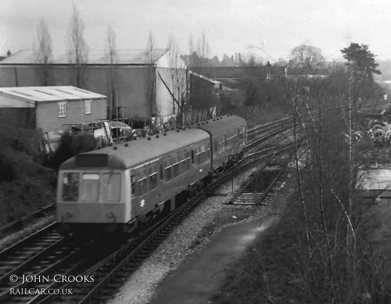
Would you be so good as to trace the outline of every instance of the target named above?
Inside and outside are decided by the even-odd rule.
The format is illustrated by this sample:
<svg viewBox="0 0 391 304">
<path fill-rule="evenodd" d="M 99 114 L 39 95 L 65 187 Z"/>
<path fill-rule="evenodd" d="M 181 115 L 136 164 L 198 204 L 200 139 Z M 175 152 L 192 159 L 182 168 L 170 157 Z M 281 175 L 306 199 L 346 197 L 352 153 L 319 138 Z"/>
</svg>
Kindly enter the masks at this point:
<svg viewBox="0 0 391 304">
<path fill-rule="evenodd" d="M 356 190 L 363 169 L 373 168 L 368 155 L 379 151 L 353 136 L 362 102 L 384 91 L 371 76 L 378 71 L 368 46 L 352 43 L 341 51 L 347 65 L 327 79 L 290 83 L 291 116 L 300 125 L 285 185 L 291 194 L 212 303 L 391 303 L 390 249 L 374 238 L 389 223 L 372 211 L 376 198 L 364 201 Z"/>
</svg>

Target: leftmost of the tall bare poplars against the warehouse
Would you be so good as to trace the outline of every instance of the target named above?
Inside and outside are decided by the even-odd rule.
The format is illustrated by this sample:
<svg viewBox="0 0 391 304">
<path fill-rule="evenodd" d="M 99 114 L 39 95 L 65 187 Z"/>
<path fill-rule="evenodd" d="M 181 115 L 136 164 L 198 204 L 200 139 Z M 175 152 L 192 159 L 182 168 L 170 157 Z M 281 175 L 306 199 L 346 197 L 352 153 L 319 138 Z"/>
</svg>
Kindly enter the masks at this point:
<svg viewBox="0 0 391 304">
<path fill-rule="evenodd" d="M 41 18 L 37 27 L 38 47 L 33 46 L 36 62 L 40 67 L 36 68 L 36 73 L 43 86 L 54 83 L 50 64 L 53 63 L 52 39 L 47 28 L 46 21 Z"/>
</svg>

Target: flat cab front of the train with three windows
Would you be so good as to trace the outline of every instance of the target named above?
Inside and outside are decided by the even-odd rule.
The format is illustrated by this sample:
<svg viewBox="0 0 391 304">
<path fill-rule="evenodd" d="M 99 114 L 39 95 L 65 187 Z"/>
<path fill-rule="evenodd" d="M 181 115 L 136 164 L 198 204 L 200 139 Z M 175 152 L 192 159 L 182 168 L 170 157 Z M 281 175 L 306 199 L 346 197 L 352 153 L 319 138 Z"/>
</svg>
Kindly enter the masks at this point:
<svg viewBox="0 0 391 304">
<path fill-rule="evenodd" d="M 113 232 L 130 221 L 129 170 L 75 168 L 60 170 L 56 217 L 61 234 L 86 226 Z"/>
</svg>

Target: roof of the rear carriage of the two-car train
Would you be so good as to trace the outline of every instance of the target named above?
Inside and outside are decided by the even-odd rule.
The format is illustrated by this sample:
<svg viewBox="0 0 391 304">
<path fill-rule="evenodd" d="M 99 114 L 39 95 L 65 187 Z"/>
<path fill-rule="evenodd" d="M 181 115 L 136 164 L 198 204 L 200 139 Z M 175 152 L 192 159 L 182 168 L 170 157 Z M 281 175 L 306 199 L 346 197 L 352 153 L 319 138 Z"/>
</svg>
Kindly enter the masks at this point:
<svg viewBox="0 0 391 304">
<path fill-rule="evenodd" d="M 208 122 L 208 123 L 206 123 Z M 199 129 L 209 132 L 212 137 L 223 133 L 228 129 L 237 128 L 239 125 L 246 124 L 246 120 L 236 115 L 224 115 L 205 122 L 197 124 Z"/>
</svg>

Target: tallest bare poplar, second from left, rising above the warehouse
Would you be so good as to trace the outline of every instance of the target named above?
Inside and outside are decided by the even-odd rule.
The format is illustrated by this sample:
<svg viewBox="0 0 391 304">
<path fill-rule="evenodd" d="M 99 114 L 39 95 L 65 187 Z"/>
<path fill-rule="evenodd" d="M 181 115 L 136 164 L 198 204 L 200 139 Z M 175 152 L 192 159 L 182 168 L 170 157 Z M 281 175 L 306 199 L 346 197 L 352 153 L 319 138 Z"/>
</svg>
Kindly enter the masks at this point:
<svg viewBox="0 0 391 304">
<path fill-rule="evenodd" d="M 69 48 L 67 52 L 68 62 L 74 64 L 75 79 L 77 87 L 83 87 L 87 83 L 86 67 L 88 59 L 88 46 L 84 39 L 84 22 L 80 17 L 76 5 L 73 5 L 72 17 L 69 23 Z"/>
</svg>

